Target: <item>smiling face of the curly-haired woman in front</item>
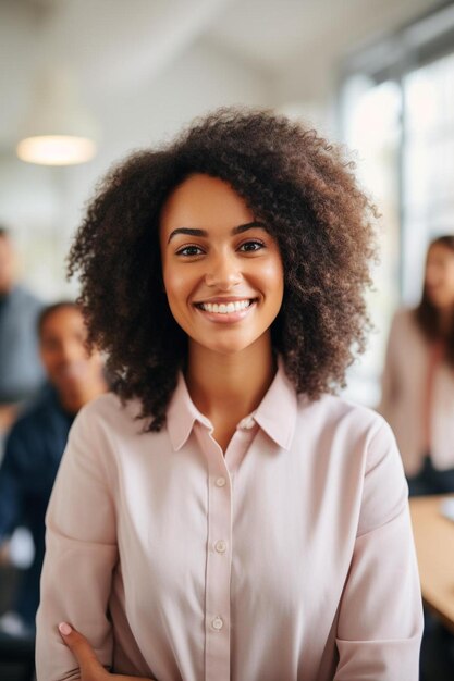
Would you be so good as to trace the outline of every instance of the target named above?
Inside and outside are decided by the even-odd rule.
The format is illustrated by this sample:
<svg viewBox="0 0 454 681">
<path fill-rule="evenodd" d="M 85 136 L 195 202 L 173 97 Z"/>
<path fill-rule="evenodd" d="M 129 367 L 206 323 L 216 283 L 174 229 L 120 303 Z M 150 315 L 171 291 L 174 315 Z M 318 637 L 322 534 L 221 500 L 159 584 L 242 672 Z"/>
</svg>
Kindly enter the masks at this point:
<svg viewBox="0 0 454 681">
<path fill-rule="evenodd" d="M 270 333 L 284 290 L 281 255 L 232 187 L 191 175 L 167 200 L 160 221 L 170 309 L 189 343 L 231 354 Z"/>
</svg>

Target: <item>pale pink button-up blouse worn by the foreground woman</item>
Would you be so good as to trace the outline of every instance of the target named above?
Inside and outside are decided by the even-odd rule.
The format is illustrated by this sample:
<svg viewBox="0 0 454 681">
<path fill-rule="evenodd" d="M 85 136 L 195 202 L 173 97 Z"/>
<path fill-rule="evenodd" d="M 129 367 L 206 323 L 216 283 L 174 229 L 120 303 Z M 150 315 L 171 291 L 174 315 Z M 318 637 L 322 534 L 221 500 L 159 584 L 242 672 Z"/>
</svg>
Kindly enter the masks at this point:
<svg viewBox="0 0 454 681">
<path fill-rule="evenodd" d="M 282 369 L 225 451 L 183 377 L 167 426 L 113 395 L 77 417 L 47 515 L 38 681 L 416 681 L 421 602 L 389 426 Z"/>
</svg>

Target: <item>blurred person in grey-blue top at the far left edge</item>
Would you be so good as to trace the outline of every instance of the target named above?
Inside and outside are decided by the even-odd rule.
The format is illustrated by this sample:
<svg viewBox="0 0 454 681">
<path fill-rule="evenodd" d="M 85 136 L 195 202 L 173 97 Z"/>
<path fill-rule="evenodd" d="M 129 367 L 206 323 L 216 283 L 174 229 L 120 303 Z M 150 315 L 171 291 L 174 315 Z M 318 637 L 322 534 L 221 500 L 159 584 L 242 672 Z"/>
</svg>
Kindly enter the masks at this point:
<svg viewBox="0 0 454 681">
<path fill-rule="evenodd" d="M 0 226 L 0 437 L 44 381 L 36 335 L 42 304 L 16 283 L 15 261 L 11 236 Z"/>
</svg>

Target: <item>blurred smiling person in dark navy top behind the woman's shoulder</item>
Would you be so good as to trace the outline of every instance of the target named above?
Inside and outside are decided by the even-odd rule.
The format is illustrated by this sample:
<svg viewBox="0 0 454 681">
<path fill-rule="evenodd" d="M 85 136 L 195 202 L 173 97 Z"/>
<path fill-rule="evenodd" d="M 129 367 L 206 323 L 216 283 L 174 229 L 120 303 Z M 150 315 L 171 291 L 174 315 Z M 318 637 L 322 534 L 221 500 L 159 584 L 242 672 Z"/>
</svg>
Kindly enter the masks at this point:
<svg viewBox="0 0 454 681">
<path fill-rule="evenodd" d="M 103 362 L 88 352 L 79 308 L 60 301 L 38 320 L 39 349 L 48 382 L 16 420 L 5 441 L 0 468 L 0 544 L 13 530 L 30 530 L 35 556 L 20 583 L 13 610 L 0 631 L 33 633 L 45 554 L 45 513 L 68 433 L 77 411 L 107 391 Z"/>
</svg>

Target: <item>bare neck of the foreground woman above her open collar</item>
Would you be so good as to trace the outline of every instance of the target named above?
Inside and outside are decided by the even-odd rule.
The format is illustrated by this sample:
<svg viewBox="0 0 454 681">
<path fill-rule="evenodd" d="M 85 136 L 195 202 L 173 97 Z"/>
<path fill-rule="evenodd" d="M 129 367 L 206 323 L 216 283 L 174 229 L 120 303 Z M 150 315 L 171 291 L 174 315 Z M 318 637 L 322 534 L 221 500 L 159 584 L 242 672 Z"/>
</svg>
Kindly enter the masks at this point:
<svg viewBox="0 0 454 681">
<path fill-rule="evenodd" d="M 213 424 L 214 437 L 223 449 L 236 424 L 257 409 L 275 370 L 268 336 L 231 355 L 189 345 L 187 388 L 197 409 Z"/>
</svg>

